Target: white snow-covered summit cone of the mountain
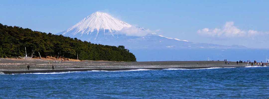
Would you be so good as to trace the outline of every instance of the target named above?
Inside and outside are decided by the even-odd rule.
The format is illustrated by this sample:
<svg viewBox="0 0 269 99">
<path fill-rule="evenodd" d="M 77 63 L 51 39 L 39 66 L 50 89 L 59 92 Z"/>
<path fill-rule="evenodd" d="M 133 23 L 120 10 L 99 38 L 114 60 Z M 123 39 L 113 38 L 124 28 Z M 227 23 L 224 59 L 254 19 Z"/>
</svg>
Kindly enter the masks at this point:
<svg viewBox="0 0 269 99">
<path fill-rule="evenodd" d="M 62 34 L 65 35 L 76 35 L 80 33 L 81 35 L 87 33 L 87 35 L 93 31 L 99 32 L 99 30 L 108 30 L 109 32 L 112 31 L 120 31 L 123 28 L 129 28 L 132 25 L 120 21 L 107 13 L 104 12 L 95 12 L 90 16 L 87 16 L 82 21 L 77 23 L 76 25 L 72 26 L 68 30 L 64 31 Z"/>
</svg>

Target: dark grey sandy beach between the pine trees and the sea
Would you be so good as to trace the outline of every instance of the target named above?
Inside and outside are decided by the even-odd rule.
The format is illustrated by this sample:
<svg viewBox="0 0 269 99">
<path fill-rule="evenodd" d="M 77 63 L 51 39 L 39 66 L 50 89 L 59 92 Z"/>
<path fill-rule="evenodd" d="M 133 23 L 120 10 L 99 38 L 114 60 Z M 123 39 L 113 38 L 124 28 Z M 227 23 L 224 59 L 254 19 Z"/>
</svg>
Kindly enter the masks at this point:
<svg viewBox="0 0 269 99">
<path fill-rule="evenodd" d="M 159 62 L 109 62 L 109 61 L 54 61 L 54 60 L 22 60 L 0 58 L 0 71 L 4 74 L 18 73 L 51 73 L 67 71 L 91 71 L 91 70 L 133 70 L 133 69 L 165 69 L 165 68 L 210 68 L 210 67 L 243 67 L 246 63 L 225 61 L 159 61 Z M 30 70 L 27 70 L 27 65 Z M 52 65 L 55 70 L 52 70 Z"/>
</svg>

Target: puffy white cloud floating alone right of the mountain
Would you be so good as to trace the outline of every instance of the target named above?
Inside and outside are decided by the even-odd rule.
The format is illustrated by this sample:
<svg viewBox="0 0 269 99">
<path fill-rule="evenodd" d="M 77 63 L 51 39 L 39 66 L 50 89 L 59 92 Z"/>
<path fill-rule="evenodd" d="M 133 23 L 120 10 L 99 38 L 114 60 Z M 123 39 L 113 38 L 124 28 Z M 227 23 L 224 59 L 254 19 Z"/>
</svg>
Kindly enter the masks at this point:
<svg viewBox="0 0 269 99">
<path fill-rule="evenodd" d="M 259 34 L 266 34 L 267 32 L 258 32 L 255 30 L 249 30 L 249 31 L 243 31 L 236 26 L 234 26 L 234 22 L 226 22 L 225 25 L 220 29 L 220 28 L 214 28 L 214 29 L 209 29 L 209 28 L 204 28 L 204 29 L 199 29 L 197 33 L 201 35 L 207 35 L 207 36 L 212 36 L 212 37 L 242 37 L 242 36 L 254 36 L 254 35 L 259 35 Z"/>
</svg>

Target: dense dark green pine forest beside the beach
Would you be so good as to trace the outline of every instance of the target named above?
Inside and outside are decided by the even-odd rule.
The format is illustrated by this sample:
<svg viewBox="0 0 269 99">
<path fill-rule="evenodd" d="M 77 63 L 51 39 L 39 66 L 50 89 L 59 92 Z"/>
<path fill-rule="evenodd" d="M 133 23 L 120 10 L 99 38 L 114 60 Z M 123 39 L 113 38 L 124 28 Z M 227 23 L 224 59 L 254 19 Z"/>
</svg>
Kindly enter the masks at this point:
<svg viewBox="0 0 269 99">
<path fill-rule="evenodd" d="M 44 57 L 79 60 L 108 60 L 134 62 L 134 54 L 124 46 L 92 44 L 77 38 L 32 31 L 0 23 L 0 57 Z"/>
</svg>

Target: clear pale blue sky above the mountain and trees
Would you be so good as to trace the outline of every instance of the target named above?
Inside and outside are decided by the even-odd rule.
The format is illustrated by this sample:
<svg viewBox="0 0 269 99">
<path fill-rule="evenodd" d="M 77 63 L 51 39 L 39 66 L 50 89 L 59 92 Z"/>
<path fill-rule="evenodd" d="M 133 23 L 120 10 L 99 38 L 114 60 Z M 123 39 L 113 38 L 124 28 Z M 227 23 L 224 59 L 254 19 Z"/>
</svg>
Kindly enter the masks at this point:
<svg viewBox="0 0 269 99">
<path fill-rule="evenodd" d="M 269 48 L 269 1 L 1 1 L 0 23 L 62 32 L 96 11 L 192 42 Z"/>
</svg>

